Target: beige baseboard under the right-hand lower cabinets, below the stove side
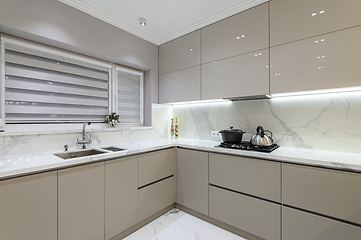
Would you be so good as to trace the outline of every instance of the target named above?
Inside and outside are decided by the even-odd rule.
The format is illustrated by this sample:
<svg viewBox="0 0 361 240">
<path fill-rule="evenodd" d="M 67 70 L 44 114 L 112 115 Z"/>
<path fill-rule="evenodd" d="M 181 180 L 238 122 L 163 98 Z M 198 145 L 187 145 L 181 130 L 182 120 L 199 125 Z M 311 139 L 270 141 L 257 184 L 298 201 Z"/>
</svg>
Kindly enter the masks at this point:
<svg viewBox="0 0 361 240">
<path fill-rule="evenodd" d="M 247 240 L 265 240 L 263 238 L 255 236 L 255 235 L 253 235 L 253 234 L 251 234 L 249 232 L 246 232 L 246 231 L 243 231 L 243 230 L 241 230 L 239 228 L 233 227 L 233 226 L 231 226 L 229 224 L 221 222 L 221 221 L 219 221 L 217 219 L 214 219 L 214 218 L 212 218 L 210 216 L 204 215 L 203 213 L 197 212 L 197 211 L 195 211 L 193 209 L 187 208 L 187 207 L 185 207 L 183 205 L 180 205 L 178 203 L 175 203 L 175 207 L 182 210 L 182 211 L 184 211 L 184 212 L 186 212 L 186 213 L 189 213 L 190 215 L 193 215 L 193 216 L 195 216 L 197 218 L 200 218 L 200 219 L 202 219 L 202 220 L 204 220 L 206 222 L 209 222 L 209 223 L 211 223 L 213 225 L 216 225 L 216 226 L 218 226 L 220 228 L 223 228 L 223 229 L 225 229 L 225 230 L 227 230 L 227 231 L 229 231 L 231 233 L 234 233 L 234 234 L 236 234 L 236 235 L 238 235 L 240 237 L 246 238 Z"/>
</svg>

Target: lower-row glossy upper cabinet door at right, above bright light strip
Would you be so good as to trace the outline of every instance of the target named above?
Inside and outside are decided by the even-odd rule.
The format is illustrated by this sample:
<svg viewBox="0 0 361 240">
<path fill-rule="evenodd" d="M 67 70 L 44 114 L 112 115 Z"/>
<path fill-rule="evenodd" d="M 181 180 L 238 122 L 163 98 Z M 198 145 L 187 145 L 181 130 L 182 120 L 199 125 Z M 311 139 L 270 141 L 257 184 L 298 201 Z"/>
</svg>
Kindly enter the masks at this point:
<svg viewBox="0 0 361 240">
<path fill-rule="evenodd" d="M 274 93 L 361 86 L 361 26 L 271 48 Z"/>
</svg>

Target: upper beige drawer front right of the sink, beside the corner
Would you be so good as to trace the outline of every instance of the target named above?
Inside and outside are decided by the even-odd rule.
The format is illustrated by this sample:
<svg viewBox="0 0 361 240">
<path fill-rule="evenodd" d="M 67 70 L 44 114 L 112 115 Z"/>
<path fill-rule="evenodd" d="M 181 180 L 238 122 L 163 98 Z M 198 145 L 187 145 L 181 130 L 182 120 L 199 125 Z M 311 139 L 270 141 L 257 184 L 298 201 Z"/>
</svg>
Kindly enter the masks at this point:
<svg viewBox="0 0 361 240">
<path fill-rule="evenodd" d="M 162 150 L 138 156 L 138 187 L 175 173 L 175 150 Z"/>
</svg>

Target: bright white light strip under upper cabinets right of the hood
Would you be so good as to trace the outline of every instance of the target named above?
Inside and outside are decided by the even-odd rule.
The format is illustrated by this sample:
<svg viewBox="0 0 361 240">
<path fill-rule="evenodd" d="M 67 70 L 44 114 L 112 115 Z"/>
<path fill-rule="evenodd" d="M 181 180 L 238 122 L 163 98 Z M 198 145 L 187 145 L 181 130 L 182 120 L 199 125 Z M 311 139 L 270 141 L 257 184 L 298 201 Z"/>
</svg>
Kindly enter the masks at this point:
<svg viewBox="0 0 361 240">
<path fill-rule="evenodd" d="M 283 99 L 286 97 L 305 97 L 305 96 L 339 96 L 344 95 L 345 93 L 349 94 L 361 94 L 361 86 L 359 87 L 348 87 L 348 88 L 333 88 L 333 89 L 322 89 L 322 90 L 312 90 L 312 91 L 303 91 L 303 92 L 290 92 L 290 93 L 275 93 L 272 94 L 273 100 Z"/>
</svg>

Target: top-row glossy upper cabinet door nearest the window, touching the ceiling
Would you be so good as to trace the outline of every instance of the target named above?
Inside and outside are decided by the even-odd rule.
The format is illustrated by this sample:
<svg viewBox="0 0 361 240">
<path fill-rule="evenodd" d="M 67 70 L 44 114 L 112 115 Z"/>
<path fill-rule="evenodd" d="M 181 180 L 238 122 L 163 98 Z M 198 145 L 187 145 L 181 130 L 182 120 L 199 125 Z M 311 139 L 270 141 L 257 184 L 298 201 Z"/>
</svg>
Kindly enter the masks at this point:
<svg viewBox="0 0 361 240">
<path fill-rule="evenodd" d="M 195 31 L 159 46 L 159 74 L 201 64 L 201 31 Z"/>
</svg>

